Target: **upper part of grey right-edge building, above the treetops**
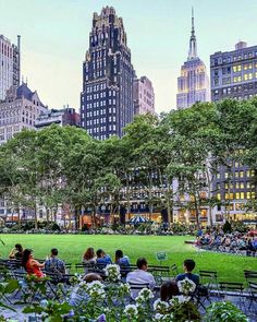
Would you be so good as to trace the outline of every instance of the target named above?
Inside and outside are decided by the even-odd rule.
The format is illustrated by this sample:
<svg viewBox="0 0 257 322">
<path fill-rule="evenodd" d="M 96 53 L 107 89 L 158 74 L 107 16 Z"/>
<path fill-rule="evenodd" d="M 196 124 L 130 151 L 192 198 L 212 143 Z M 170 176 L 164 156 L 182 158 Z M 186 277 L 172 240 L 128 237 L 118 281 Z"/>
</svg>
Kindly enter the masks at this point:
<svg viewBox="0 0 257 322">
<path fill-rule="evenodd" d="M 240 41 L 235 50 L 210 56 L 211 100 L 250 98 L 257 94 L 257 46 Z"/>
</svg>

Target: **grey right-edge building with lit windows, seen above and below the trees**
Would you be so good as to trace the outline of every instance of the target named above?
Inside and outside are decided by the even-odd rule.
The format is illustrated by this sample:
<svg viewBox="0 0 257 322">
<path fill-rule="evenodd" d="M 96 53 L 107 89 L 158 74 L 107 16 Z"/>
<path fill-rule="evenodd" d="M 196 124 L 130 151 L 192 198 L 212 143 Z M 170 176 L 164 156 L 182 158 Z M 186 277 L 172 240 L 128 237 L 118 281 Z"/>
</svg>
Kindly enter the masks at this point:
<svg viewBox="0 0 257 322">
<path fill-rule="evenodd" d="M 247 99 L 257 95 L 257 46 L 240 41 L 235 50 L 210 56 L 211 100 Z M 228 181 L 230 175 L 230 181 Z M 213 181 L 215 195 L 223 206 L 216 206 L 216 222 L 224 218 L 256 223 L 255 213 L 246 213 L 245 204 L 255 200 L 255 171 L 238 162 L 228 169 L 222 166 Z"/>
</svg>

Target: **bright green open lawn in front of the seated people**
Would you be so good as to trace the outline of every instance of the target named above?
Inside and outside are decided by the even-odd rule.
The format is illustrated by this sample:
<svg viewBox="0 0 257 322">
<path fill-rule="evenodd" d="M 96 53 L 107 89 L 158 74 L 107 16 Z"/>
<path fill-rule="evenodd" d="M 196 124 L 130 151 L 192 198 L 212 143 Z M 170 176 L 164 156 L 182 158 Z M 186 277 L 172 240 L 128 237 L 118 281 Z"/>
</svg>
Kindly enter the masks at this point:
<svg viewBox="0 0 257 322">
<path fill-rule="evenodd" d="M 45 259 L 50 249 L 57 247 L 61 259 L 70 263 L 81 262 L 82 254 L 89 246 L 95 250 L 102 248 L 113 259 L 114 251 L 122 249 L 135 263 L 139 257 L 145 257 L 149 264 L 159 264 L 155 254 L 158 251 L 168 253 L 163 265 L 175 263 L 182 271 L 184 259 L 194 259 L 198 270 L 218 271 L 219 281 L 244 281 L 244 270 L 257 271 L 257 258 L 229 255 L 197 251 L 184 240 L 193 237 L 184 236 L 106 236 L 106 235 L 2 235 L 5 246 L 0 245 L 1 258 L 7 258 L 16 242 L 24 248 L 33 248 L 35 258 Z"/>
</svg>

